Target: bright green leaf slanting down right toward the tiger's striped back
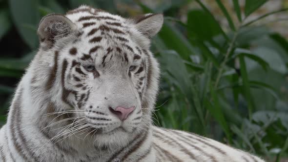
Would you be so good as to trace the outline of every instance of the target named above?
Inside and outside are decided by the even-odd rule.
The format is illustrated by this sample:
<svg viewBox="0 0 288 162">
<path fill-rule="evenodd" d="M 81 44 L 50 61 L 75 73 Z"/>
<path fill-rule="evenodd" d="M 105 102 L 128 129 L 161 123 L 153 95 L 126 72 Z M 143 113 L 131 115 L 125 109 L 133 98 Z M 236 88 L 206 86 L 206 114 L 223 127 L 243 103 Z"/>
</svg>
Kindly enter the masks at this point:
<svg viewBox="0 0 288 162">
<path fill-rule="evenodd" d="M 206 101 L 205 102 L 207 104 L 206 108 L 210 111 L 210 114 L 215 118 L 215 120 L 219 122 L 219 124 L 221 125 L 221 127 L 223 128 L 226 134 L 226 137 L 229 143 L 231 143 L 232 139 L 231 139 L 230 129 L 223 115 L 223 112 L 222 112 L 223 110 L 219 104 L 218 94 L 216 94 L 216 92 L 214 91 L 213 86 L 210 86 L 210 92 L 211 92 L 211 96 L 212 96 L 214 104 L 212 105 L 209 101 Z"/>
</svg>

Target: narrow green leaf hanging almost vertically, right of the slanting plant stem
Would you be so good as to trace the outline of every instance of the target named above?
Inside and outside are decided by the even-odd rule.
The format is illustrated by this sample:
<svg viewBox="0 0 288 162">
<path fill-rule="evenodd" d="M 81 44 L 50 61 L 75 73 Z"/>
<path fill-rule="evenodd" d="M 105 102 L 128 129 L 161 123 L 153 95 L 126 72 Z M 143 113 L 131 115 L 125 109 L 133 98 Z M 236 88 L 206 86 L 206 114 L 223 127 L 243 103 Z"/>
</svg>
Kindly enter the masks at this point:
<svg viewBox="0 0 288 162">
<path fill-rule="evenodd" d="M 244 56 L 239 56 L 239 61 L 240 61 L 241 77 L 242 77 L 242 81 L 243 81 L 243 88 L 245 91 L 245 99 L 246 99 L 247 104 L 248 104 L 249 120 L 251 120 L 252 112 L 253 112 L 253 103 L 252 103 L 252 96 L 250 93 L 250 84 L 249 84 L 249 80 L 248 80 L 248 74 L 247 74 Z"/>
</svg>

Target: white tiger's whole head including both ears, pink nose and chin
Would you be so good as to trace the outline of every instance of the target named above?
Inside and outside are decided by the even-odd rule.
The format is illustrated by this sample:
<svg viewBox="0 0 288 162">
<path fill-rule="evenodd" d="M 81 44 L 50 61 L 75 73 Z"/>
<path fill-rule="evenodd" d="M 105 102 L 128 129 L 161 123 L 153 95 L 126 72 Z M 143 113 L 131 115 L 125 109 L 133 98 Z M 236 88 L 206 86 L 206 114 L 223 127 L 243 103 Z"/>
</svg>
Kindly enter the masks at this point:
<svg viewBox="0 0 288 162">
<path fill-rule="evenodd" d="M 88 6 L 44 17 L 35 73 L 46 81 L 53 111 L 74 111 L 99 145 L 123 145 L 144 132 L 159 77 L 149 39 L 162 24 L 161 14 L 124 19 Z"/>
</svg>

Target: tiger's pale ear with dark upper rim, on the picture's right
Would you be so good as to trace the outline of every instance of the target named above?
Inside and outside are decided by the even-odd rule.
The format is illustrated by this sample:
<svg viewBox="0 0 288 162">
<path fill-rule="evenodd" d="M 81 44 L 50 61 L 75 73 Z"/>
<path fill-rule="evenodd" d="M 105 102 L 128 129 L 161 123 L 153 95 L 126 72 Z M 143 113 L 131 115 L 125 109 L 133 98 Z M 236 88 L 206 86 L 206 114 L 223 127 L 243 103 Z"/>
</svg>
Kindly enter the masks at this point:
<svg viewBox="0 0 288 162">
<path fill-rule="evenodd" d="M 145 14 L 134 19 L 136 28 L 148 38 L 155 36 L 163 25 L 162 14 Z"/>
</svg>

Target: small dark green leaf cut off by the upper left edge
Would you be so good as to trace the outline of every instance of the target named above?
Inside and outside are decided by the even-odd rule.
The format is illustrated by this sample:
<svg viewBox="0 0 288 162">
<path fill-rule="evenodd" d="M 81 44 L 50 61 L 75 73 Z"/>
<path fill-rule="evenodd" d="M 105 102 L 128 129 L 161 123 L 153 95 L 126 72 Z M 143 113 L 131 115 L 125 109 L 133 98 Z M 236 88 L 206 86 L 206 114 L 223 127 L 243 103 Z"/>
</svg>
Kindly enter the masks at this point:
<svg viewBox="0 0 288 162">
<path fill-rule="evenodd" d="M 12 22 L 10 20 L 10 15 L 8 9 L 0 10 L 0 40 L 1 38 L 10 30 Z"/>
</svg>

